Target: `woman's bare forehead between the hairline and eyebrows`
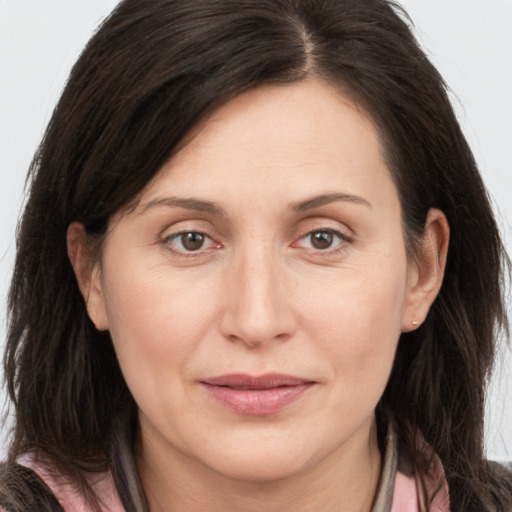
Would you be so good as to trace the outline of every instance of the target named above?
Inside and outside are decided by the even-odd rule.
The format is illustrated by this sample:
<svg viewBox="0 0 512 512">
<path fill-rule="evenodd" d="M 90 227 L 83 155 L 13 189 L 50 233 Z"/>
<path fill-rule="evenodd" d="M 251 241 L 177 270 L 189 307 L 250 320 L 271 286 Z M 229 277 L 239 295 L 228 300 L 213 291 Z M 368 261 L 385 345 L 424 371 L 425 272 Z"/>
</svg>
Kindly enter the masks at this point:
<svg viewBox="0 0 512 512">
<path fill-rule="evenodd" d="M 144 202 L 166 187 L 215 201 L 246 201 L 270 188 L 290 202 L 334 190 L 396 195 L 370 117 L 317 80 L 262 86 L 227 102 L 191 132 Z"/>
</svg>

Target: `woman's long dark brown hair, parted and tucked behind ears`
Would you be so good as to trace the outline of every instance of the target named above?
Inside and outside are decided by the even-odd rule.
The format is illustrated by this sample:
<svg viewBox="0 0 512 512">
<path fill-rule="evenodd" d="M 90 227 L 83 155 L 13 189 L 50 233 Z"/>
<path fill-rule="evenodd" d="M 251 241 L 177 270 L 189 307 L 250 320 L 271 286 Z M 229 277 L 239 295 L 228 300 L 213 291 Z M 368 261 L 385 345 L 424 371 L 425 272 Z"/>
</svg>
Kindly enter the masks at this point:
<svg viewBox="0 0 512 512">
<path fill-rule="evenodd" d="M 452 510 L 512 507 L 482 442 L 508 260 L 446 87 L 408 24 L 385 0 L 119 4 L 74 66 L 30 169 L 4 359 L 11 461 L 43 453 L 92 501 L 84 472 L 110 467 L 126 509 L 140 507 L 123 462 L 136 404 L 108 333 L 87 316 L 66 229 L 79 221 L 101 243 L 201 118 L 250 88 L 313 76 L 379 127 L 410 251 L 429 208 L 451 228 L 443 287 L 424 325 L 402 335 L 379 415 L 420 470 L 419 434 L 440 457 Z"/>
</svg>

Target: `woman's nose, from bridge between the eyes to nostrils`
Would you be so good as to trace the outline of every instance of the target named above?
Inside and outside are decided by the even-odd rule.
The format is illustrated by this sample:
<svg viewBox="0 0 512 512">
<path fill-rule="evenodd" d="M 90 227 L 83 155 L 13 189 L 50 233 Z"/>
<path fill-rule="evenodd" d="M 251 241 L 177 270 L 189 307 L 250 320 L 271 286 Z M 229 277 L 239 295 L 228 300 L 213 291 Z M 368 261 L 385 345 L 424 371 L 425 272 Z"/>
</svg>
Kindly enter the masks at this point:
<svg viewBox="0 0 512 512">
<path fill-rule="evenodd" d="M 251 348 L 288 340 L 296 330 L 289 279 L 272 250 L 246 251 L 227 270 L 222 334 Z"/>
</svg>

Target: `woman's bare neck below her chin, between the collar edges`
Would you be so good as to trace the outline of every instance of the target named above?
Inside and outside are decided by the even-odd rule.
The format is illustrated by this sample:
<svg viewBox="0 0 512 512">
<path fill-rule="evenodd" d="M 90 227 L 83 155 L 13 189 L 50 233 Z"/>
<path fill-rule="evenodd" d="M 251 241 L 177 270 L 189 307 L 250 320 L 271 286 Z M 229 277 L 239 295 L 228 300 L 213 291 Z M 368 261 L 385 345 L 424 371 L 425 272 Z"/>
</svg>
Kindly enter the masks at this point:
<svg viewBox="0 0 512 512">
<path fill-rule="evenodd" d="M 239 480 L 220 474 L 165 443 L 137 446 L 137 465 L 150 512 L 188 510 L 370 512 L 381 471 L 375 420 L 366 436 L 276 480 Z"/>
</svg>

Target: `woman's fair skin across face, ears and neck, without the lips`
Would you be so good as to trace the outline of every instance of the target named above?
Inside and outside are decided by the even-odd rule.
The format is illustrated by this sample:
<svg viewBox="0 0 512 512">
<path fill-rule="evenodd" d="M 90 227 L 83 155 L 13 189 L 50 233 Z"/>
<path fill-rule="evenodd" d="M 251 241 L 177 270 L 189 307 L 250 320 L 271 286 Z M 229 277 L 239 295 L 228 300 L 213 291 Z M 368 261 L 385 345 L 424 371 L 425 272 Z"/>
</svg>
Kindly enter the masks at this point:
<svg viewBox="0 0 512 512">
<path fill-rule="evenodd" d="M 204 244 L 187 251 L 183 232 Z M 315 247 L 312 233 L 326 232 L 331 245 Z M 315 80 L 244 93 L 112 219 L 100 259 L 85 238 L 72 224 L 69 254 L 139 406 L 151 511 L 371 510 L 375 407 L 400 333 L 439 291 L 448 226 L 431 210 L 408 257 L 364 112 Z M 314 385 L 248 417 L 200 384 L 268 372 Z"/>
</svg>

